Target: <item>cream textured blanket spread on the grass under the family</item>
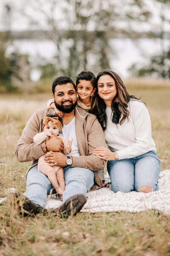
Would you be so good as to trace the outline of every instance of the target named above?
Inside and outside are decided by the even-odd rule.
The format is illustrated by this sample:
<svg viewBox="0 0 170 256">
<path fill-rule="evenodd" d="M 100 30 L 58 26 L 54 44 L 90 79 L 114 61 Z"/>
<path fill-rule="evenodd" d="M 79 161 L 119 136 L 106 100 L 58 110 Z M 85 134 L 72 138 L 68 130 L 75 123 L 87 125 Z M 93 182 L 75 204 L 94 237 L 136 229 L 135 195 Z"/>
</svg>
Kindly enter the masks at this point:
<svg viewBox="0 0 170 256">
<path fill-rule="evenodd" d="M 110 184 L 109 175 L 105 175 L 106 183 Z M 170 215 L 170 170 L 159 175 L 159 190 L 150 193 L 114 193 L 110 188 L 101 188 L 86 194 L 88 200 L 81 212 L 119 212 L 139 213 L 146 210 L 158 210 Z M 49 199 L 46 208 L 57 208 L 60 200 Z"/>
</svg>

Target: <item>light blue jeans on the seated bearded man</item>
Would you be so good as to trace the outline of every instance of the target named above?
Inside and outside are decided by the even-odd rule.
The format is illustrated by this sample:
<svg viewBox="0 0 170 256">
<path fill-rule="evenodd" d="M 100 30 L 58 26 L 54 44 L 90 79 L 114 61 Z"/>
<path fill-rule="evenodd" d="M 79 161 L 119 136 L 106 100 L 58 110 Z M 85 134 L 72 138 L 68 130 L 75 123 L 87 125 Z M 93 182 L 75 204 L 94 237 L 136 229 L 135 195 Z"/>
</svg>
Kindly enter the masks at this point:
<svg viewBox="0 0 170 256">
<path fill-rule="evenodd" d="M 85 168 L 64 166 L 65 191 L 63 202 L 77 194 L 86 194 L 94 185 L 94 172 Z M 45 207 L 47 195 L 52 189 L 48 177 L 32 167 L 26 178 L 26 197 L 36 204 Z"/>
</svg>

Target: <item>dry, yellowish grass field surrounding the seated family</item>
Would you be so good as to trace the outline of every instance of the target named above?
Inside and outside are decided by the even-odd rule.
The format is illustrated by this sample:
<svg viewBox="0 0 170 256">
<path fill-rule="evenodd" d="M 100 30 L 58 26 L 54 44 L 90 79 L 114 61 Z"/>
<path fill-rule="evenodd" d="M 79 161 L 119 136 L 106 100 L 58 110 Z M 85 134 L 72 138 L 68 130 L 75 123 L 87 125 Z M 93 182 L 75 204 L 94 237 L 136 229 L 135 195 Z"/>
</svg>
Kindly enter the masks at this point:
<svg viewBox="0 0 170 256">
<path fill-rule="evenodd" d="M 131 86 L 142 96 L 152 121 L 161 170 L 170 169 L 170 86 Z M 30 163 L 18 163 L 15 146 L 34 109 L 46 106 L 50 93 L 0 96 L 0 197 L 14 187 L 26 190 Z M 144 213 L 79 213 L 24 217 L 8 200 L 0 206 L 2 256 L 170 256 L 170 216 Z"/>
</svg>

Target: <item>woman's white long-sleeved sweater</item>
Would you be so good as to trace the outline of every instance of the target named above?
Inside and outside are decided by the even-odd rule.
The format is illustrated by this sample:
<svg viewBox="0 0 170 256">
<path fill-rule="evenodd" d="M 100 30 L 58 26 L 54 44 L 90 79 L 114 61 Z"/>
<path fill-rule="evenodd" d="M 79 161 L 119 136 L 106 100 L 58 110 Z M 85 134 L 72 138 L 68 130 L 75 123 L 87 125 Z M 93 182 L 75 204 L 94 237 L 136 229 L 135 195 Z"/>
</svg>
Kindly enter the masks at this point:
<svg viewBox="0 0 170 256">
<path fill-rule="evenodd" d="M 129 110 L 129 120 L 126 118 L 120 125 L 112 123 L 111 108 L 106 107 L 108 123 L 105 139 L 108 148 L 113 152 L 116 151 L 119 159 L 136 157 L 150 150 L 156 151 L 151 135 L 150 115 L 145 105 L 141 101 L 132 99 L 129 101 L 127 109 Z"/>
</svg>

